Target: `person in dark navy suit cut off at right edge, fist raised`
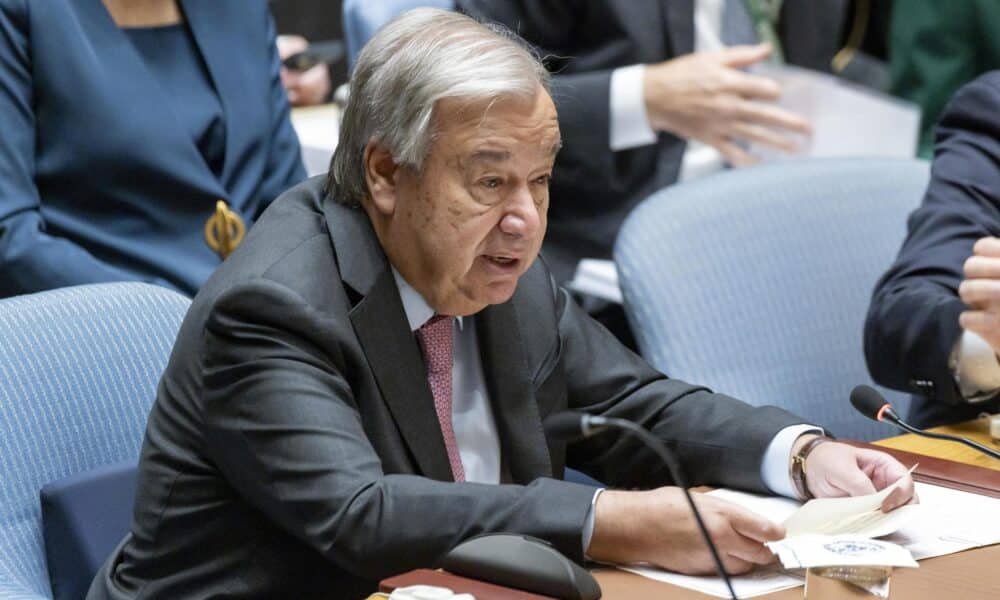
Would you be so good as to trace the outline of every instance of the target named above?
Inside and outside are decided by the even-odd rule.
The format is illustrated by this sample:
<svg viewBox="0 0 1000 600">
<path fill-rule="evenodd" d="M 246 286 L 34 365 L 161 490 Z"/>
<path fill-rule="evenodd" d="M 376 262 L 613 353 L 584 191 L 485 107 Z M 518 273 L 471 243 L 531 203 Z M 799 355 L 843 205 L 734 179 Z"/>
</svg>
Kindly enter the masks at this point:
<svg viewBox="0 0 1000 600">
<path fill-rule="evenodd" d="M 915 394 L 923 427 L 1000 412 L 1000 71 L 963 87 L 937 127 L 931 181 L 875 286 L 865 356 Z"/>
</svg>

